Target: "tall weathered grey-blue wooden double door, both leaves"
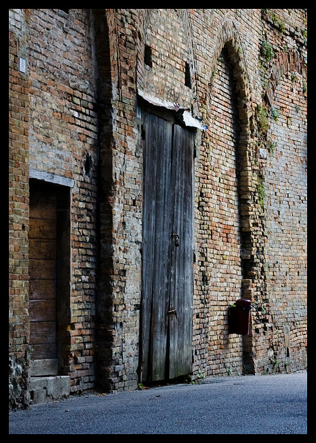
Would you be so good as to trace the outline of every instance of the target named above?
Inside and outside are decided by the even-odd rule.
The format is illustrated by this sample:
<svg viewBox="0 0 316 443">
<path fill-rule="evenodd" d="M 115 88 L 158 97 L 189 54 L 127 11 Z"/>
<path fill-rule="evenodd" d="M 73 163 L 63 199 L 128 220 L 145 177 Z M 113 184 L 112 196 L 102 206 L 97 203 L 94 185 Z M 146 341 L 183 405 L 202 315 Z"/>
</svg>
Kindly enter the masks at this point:
<svg viewBox="0 0 316 443">
<path fill-rule="evenodd" d="M 143 113 L 142 381 L 192 371 L 194 134 Z"/>
</svg>

